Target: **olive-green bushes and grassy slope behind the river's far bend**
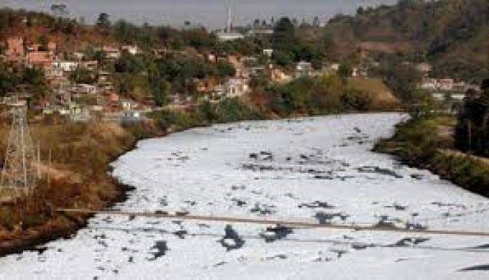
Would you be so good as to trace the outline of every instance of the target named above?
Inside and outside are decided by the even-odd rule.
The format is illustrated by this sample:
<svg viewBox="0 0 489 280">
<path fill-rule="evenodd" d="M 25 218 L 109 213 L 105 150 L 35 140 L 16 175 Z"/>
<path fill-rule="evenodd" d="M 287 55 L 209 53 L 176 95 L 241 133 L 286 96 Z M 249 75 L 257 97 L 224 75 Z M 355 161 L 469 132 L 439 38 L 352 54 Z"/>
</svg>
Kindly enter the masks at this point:
<svg viewBox="0 0 489 280">
<path fill-rule="evenodd" d="M 377 82 L 379 82 L 377 80 Z M 375 83 L 375 82 L 374 82 Z M 381 82 L 380 82 L 381 83 Z M 289 84 L 260 84 L 256 81 L 251 98 L 281 117 L 319 115 L 344 111 L 395 110 L 397 100 L 385 87 L 364 83 L 356 86 L 338 75 L 300 78 Z"/>
</svg>

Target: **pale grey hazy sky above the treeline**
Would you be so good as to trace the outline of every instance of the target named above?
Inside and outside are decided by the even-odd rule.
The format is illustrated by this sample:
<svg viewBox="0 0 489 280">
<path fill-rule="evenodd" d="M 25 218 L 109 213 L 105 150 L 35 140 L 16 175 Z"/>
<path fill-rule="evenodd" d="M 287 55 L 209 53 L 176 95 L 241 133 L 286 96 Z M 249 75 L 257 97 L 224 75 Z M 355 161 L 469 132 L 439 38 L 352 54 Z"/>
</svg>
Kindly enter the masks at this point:
<svg viewBox="0 0 489 280">
<path fill-rule="evenodd" d="M 226 22 L 228 0 L 0 0 L 0 6 L 50 11 L 52 3 L 66 3 L 74 17 L 93 22 L 105 12 L 111 20 L 124 18 L 131 22 L 182 25 L 185 20 L 216 29 Z M 287 15 L 328 19 L 337 13 L 354 13 L 358 6 L 391 4 L 397 0 L 234 0 L 234 22 L 246 24 L 256 17 Z"/>
</svg>

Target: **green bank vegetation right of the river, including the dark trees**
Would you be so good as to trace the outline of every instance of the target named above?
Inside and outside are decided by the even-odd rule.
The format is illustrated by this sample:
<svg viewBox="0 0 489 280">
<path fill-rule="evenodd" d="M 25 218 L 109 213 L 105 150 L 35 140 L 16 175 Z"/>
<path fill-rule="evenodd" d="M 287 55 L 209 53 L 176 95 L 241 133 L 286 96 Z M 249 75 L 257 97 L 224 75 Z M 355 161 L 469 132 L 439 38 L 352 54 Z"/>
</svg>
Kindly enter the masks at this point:
<svg viewBox="0 0 489 280">
<path fill-rule="evenodd" d="M 413 115 L 396 126 L 393 138 L 382 140 L 374 149 L 395 154 L 409 165 L 427 168 L 464 189 L 489 197 L 488 80 L 482 88 L 477 96 L 469 94 L 458 117 Z"/>
</svg>

